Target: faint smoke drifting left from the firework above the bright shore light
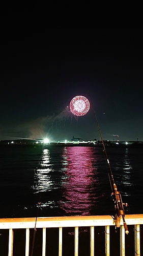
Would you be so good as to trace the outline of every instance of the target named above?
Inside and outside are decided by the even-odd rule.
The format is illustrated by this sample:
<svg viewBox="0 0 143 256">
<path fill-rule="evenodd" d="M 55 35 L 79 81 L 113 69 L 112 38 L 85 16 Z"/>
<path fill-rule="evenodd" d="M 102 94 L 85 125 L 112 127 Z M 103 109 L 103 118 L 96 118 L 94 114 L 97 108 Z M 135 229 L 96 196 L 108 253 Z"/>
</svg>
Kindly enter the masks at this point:
<svg viewBox="0 0 143 256">
<path fill-rule="evenodd" d="M 52 137 L 52 134 L 59 129 L 59 123 L 63 125 L 63 121 L 65 122 L 69 118 L 72 118 L 72 114 L 69 107 L 66 106 L 57 115 L 41 116 L 27 122 L 11 125 L 9 129 L 4 129 L 4 127 L 0 126 L 1 136 L 4 139 L 43 139 L 47 136 Z"/>
</svg>

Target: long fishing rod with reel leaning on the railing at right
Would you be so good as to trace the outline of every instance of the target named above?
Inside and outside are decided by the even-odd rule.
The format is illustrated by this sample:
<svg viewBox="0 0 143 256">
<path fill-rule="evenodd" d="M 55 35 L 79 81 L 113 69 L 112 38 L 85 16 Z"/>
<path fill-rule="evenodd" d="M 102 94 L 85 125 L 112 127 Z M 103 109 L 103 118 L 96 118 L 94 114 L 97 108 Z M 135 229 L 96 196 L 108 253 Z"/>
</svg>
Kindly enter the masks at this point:
<svg viewBox="0 0 143 256">
<path fill-rule="evenodd" d="M 90 98 L 91 98 L 91 96 L 90 96 Z M 115 180 L 113 178 L 110 162 L 109 162 L 109 159 L 108 159 L 108 156 L 107 156 L 105 144 L 104 144 L 104 141 L 103 141 L 103 138 L 102 138 L 102 134 L 101 134 L 101 131 L 100 131 L 100 127 L 99 127 L 99 123 L 98 123 L 98 119 L 97 119 L 97 116 L 96 116 L 96 113 L 95 113 L 95 109 L 94 109 L 92 99 L 91 99 L 91 103 L 92 103 L 94 115 L 95 115 L 97 126 L 98 126 L 98 131 L 99 131 L 100 138 L 101 138 L 102 145 L 103 145 L 103 152 L 105 153 L 106 160 L 107 160 L 108 167 L 109 167 L 108 177 L 109 177 L 109 182 L 110 182 L 110 186 L 111 186 L 111 190 L 112 190 L 111 197 L 112 197 L 112 199 L 115 203 L 115 210 L 117 212 L 117 214 L 115 215 L 115 224 L 116 224 L 116 227 L 120 227 L 120 219 L 121 219 L 121 216 L 122 216 L 123 223 L 124 223 L 124 228 L 125 228 L 125 233 L 128 234 L 129 231 L 128 231 L 128 227 L 127 227 L 127 224 L 126 224 L 126 221 L 125 221 L 125 211 L 124 211 L 124 205 L 127 206 L 128 204 L 122 202 L 122 197 L 121 197 L 120 191 L 118 191 L 117 185 L 115 184 Z"/>
</svg>

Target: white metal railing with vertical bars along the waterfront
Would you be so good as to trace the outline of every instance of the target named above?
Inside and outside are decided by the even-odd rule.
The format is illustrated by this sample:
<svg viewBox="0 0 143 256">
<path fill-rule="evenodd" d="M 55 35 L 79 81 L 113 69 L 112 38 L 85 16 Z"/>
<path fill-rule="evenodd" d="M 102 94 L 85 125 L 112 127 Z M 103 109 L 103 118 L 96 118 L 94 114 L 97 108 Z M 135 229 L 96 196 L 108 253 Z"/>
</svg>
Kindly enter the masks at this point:
<svg viewBox="0 0 143 256">
<path fill-rule="evenodd" d="M 140 225 L 142 215 L 126 215 L 127 225 L 134 225 L 134 255 L 140 255 Z M 30 229 L 43 229 L 42 256 L 46 255 L 46 228 L 59 228 L 59 256 L 62 256 L 63 228 L 74 227 L 74 256 L 78 256 L 78 227 L 90 227 L 90 256 L 94 256 L 95 226 L 105 226 L 105 255 L 110 255 L 110 226 L 115 225 L 111 216 L 72 216 L 48 218 L 0 219 L 0 229 L 9 229 L 8 256 L 13 255 L 13 230 L 26 229 L 25 256 L 29 254 Z M 120 226 L 120 256 L 125 256 L 125 229 L 123 221 Z"/>
</svg>

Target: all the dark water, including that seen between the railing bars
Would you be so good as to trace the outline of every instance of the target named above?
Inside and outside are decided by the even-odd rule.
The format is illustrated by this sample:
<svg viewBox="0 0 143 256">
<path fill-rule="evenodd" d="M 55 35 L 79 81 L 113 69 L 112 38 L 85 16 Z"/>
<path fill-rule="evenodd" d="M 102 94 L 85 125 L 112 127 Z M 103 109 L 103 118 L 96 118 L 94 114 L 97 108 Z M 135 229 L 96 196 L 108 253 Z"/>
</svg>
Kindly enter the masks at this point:
<svg viewBox="0 0 143 256">
<path fill-rule="evenodd" d="M 126 214 L 142 214 L 143 148 L 107 147 Z M 115 215 L 102 147 L 7 145 L 0 147 L 0 218 Z M 38 204 L 40 202 L 40 205 Z M 126 256 L 134 255 L 134 226 Z M 8 255 L 9 230 L 0 230 L 0 255 Z M 34 229 L 30 229 L 30 253 Z M 143 244 L 140 225 L 140 245 Z M 120 232 L 110 227 L 110 256 L 120 255 Z M 46 255 L 58 256 L 59 229 L 46 229 Z M 142 247 L 141 247 L 142 250 Z M 90 255 L 90 228 L 79 228 L 79 256 Z M 142 251 L 141 251 L 142 254 Z M 13 256 L 25 255 L 25 229 L 14 230 Z M 33 256 L 42 255 L 37 229 Z M 74 255 L 74 228 L 63 228 L 63 256 Z M 105 255 L 105 228 L 95 227 L 95 255 Z"/>
</svg>

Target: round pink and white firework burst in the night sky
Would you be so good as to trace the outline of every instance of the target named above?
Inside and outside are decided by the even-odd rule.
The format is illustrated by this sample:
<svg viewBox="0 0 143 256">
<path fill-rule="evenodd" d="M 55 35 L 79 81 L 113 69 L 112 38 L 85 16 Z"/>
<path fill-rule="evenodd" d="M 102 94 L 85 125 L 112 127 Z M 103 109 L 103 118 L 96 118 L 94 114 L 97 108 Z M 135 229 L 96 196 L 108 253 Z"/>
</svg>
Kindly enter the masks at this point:
<svg viewBox="0 0 143 256">
<path fill-rule="evenodd" d="M 90 110 L 90 101 L 84 96 L 75 96 L 70 102 L 70 111 L 75 116 L 84 116 Z"/>
</svg>

